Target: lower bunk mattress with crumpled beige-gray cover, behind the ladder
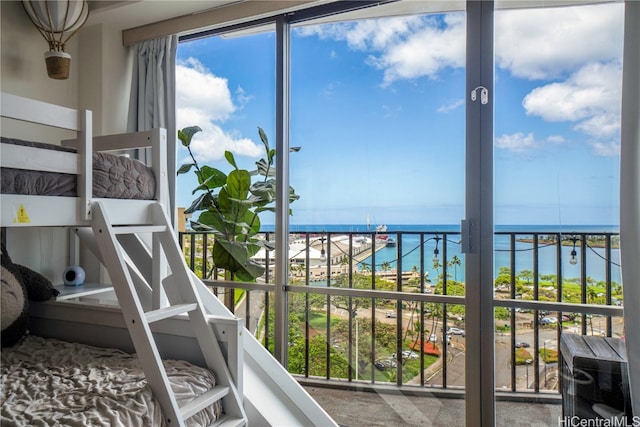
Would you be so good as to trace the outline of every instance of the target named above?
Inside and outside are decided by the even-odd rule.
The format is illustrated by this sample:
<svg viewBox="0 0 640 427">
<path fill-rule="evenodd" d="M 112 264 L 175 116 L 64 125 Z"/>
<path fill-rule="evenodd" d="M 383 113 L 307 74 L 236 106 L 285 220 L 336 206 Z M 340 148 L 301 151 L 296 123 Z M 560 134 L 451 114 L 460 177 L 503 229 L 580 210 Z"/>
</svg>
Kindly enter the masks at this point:
<svg viewBox="0 0 640 427">
<path fill-rule="evenodd" d="M 0 424 L 5 426 L 165 426 L 162 411 L 135 355 L 120 350 L 27 336 L 3 348 Z M 165 360 L 180 406 L 215 385 L 213 374 Z M 187 420 L 207 426 L 221 402 Z"/>
</svg>

